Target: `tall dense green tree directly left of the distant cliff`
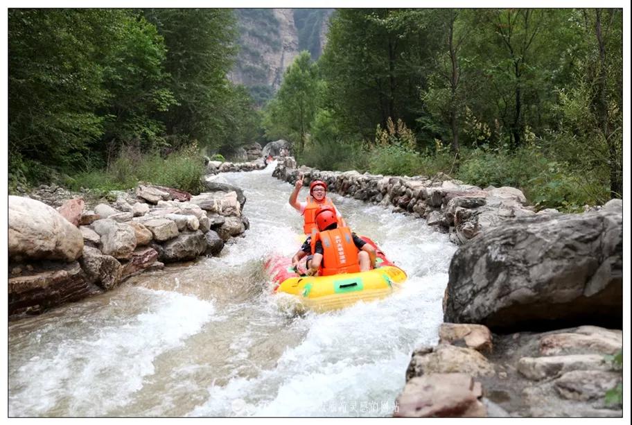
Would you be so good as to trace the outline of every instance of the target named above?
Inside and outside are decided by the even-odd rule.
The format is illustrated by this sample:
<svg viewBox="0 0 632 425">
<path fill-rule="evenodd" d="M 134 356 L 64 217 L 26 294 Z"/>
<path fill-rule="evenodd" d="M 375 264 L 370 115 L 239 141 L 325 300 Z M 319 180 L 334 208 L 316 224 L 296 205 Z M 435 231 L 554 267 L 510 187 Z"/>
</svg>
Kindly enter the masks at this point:
<svg viewBox="0 0 632 425">
<path fill-rule="evenodd" d="M 150 9 L 164 37 L 169 88 L 178 105 L 160 118 L 167 132 L 201 146 L 218 147 L 225 130 L 220 113 L 231 95 L 227 80 L 236 54 L 236 21 L 229 9 Z M 173 142 L 177 145 L 177 143 Z"/>
</svg>

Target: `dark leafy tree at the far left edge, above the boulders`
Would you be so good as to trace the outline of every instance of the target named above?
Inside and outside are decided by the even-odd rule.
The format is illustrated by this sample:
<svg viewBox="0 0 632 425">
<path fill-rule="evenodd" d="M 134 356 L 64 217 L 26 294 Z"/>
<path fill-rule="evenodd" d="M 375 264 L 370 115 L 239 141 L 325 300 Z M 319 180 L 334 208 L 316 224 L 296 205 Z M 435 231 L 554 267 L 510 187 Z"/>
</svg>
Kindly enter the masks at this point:
<svg viewBox="0 0 632 425">
<path fill-rule="evenodd" d="M 8 152 L 12 180 L 46 176 L 44 166 L 85 164 L 103 134 L 102 52 L 112 51 L 121 12 L 8 11 Z"/>
</svg>

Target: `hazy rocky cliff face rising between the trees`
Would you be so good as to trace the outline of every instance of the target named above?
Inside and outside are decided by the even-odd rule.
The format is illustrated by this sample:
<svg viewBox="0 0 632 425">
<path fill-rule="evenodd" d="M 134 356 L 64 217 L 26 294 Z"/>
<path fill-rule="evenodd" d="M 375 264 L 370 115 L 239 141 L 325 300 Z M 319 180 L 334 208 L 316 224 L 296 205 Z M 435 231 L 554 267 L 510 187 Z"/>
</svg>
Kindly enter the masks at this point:
<svg viewBox="0 0 632 425">
<path fill-rule="evenodd" d="M 299 51 L 322 52 L 330 9 L 236 9 L 240 51 L 229 79 L 260 105 L 272 98 Z"/>
</svg>

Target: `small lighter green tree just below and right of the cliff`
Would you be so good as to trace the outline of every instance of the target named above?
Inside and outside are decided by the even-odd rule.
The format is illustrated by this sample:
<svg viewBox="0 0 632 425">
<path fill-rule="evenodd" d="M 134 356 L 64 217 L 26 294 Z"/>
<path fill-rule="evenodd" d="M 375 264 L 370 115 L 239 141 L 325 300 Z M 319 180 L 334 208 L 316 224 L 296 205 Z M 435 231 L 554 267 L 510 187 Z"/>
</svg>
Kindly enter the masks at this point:
<svg viewBox="0 0 632 425">
<path fill-rule="evenodd" d="M 265 135 L 295 142 L 302 154 L 316 112 L 316 94 L 315 65 L 308 51 L 302 51 L 286 70 L 277 96 L 265 108 Z"/>
</svg>

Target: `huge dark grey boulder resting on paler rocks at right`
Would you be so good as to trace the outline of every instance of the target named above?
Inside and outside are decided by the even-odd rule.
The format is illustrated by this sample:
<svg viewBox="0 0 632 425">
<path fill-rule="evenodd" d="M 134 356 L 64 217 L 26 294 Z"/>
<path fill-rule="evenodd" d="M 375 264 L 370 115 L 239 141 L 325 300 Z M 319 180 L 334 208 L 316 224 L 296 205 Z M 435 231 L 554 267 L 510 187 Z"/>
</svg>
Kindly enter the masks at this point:
<svg viewBox="0 0 632 425">
<path fill-rule="evenodd" d="M 622 326 L 622 215 L 518 218 L 462 245 L 444 321 L 492 330 Z"/>
</svg>

